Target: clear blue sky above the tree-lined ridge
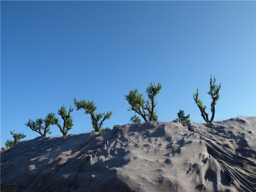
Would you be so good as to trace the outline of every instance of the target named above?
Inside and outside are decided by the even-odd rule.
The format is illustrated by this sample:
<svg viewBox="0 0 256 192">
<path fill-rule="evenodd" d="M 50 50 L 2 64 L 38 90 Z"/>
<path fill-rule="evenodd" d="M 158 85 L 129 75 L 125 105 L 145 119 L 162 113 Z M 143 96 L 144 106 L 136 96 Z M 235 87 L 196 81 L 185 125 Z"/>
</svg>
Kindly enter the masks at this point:
<svg viewBox="0 0 256 192">
<path fill-rule="evenodd" d="M 210 76 L 222 83 L 215 120 L 255 116 L 255 1 L 1 1 L 1 147 L 10 131 L 76 99 L 113 111 L 104 127 L 127 124 L 124 95 L 161 82 L 159 121 L 179 109 L 203 122 Z M 147 95 L 145 94 L 147 97 Z M 69 134 L 92 130 L 74 110 Z M 52 134 L 61 135 L 57 125 Z"/>
</svg>

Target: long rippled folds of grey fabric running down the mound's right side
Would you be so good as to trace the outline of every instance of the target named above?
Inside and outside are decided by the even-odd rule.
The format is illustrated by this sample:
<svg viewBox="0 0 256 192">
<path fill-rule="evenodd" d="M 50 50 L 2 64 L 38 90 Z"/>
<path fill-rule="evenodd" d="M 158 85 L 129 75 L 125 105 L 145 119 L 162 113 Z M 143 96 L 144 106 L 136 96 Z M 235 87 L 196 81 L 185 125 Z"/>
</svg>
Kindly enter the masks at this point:
<svg viewBox="0 0 256 192">
<path fill-rule="evenodd" d="M 230 143 L 227 137 L 221 136 L 218 132 L 205 126 L 188 127 L 188 130 L 194 132 L 204 142 L 209 155 L 219 162 L 230 177 L 230 184 L 238 192 L 256 191 L 256 164 L 249 158 L 237 154 L 234 150 L 237 146 Z M 230 143 L 230 148 L 223 147 L 227 143 Z M 232 145 L 234 146 L 233 148 Z"/>
</svg>

